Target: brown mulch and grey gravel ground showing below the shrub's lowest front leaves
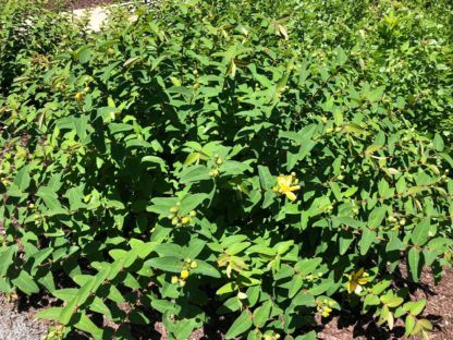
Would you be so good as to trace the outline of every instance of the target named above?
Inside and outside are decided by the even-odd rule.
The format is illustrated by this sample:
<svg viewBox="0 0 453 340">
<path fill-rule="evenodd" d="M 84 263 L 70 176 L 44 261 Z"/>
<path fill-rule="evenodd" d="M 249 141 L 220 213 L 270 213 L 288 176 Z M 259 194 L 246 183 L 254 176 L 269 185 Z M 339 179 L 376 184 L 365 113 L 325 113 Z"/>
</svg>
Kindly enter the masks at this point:
<svg viewBox="0 0 453 340">
<path fill-rule="evenodd" d="M 404 267 L 403 267 L 404 270 Z M 439 286 L 429 270 L 424 270 L 421 282 L 414 291 L 417 299 L 428 300 L 424 317 L 430 319 L 434 330 L 430 333 L 432 340 L 453 339 L 453 270 L 445 269 L 444 278 Z M 30 302 L 22 298 L 15 302 L 7 301 L 0 294 L 0 340 L 39 340 L 47 333 L 49 323 L 35 320 L 34 315 L 42 308 L 41 302 Z M 224 339 L 228 327 L 222 318 L 216 319 L 212 325 L 199 329 L 191 336 L 191 340 Z M 155 323 L 154 330 L 147 335 L 138 335 L 139 339 L 167 339 L 167 332 L 162 323 Z M 400 339 L 404 335 L 404 328 L 396 324 L 393 331 L 380 328 L 370 318 L 343 312 L 333 316 L 327 325 L 319 324 L 318 337 L 323 340 L 350 340 L 350 339 Z M 88 339 L 83 335 L 74 335 L 72 339 Z"/>
</svg>

